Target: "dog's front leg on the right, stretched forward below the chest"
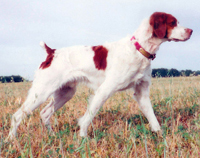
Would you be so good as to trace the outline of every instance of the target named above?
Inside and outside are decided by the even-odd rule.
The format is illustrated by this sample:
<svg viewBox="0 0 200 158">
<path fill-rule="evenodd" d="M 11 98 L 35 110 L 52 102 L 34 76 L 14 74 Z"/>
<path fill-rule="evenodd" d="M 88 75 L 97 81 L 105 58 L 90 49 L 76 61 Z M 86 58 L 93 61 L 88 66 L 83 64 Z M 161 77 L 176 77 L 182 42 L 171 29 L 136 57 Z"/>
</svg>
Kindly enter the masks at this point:
<svg viewBox="0 0 200 158">
<path fill-rule="evenodd" d="M 160 125 L 154 114 L 151 101 L 149 98 L 149 82 L 141 82 L 135 88 L 134 98 L 139 104 L 139 108 L 145 117 L 148 119 L 151 130 L 157 132 L 160 130 Z"/>
</svg>

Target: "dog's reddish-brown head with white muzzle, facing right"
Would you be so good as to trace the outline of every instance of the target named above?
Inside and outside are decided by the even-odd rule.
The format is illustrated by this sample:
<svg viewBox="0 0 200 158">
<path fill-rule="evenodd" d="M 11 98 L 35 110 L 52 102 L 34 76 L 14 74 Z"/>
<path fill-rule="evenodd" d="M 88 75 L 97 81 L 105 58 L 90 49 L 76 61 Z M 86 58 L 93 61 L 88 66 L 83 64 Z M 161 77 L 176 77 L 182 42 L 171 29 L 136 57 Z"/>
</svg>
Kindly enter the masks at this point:
<svg viewBox="0 0 200 158">
<path fill-rule="evenodd" d="M 186 41 L 193 30 L 179 26 L 177 19 L 171 14 L 155 12 L 149 20 L 153 28 L 153 36 L 168 41 Z"/>
</svg>

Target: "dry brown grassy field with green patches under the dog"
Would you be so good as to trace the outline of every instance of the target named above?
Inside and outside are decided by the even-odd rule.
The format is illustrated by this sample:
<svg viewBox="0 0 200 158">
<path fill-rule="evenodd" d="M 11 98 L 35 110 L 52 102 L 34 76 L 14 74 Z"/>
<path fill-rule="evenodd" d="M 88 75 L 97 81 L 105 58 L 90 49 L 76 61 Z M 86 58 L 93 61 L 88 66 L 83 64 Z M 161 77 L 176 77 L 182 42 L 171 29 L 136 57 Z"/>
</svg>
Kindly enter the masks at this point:
<svg viewBox="0 0 200 158">
<path fill-rule="evenodd" d="M 116 93 L 79 136 L 77 118 L 93 92 L 80 85 L 75 96 L 51 118 L 54 133 L 41 122 L 43 104 L 6 141 L 12 114 L 24 102 L 30 82 L 0 83 L 0 157 L 200 157 L 200 77 L 154 78 L 150 98 L 162 125 L 152 133 L 132 99 L 132 91 Z"/>
</svg>

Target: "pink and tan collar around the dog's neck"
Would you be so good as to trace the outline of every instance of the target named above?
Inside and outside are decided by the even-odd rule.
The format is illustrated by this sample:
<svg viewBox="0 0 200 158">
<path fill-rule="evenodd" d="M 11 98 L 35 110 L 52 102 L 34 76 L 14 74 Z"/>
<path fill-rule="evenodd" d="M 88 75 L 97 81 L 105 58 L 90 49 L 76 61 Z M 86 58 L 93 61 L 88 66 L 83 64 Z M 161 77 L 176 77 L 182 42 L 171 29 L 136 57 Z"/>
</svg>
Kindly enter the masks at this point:
<svg viewBox="0 0 200 158">
<path fill-rule="evenodd" d="M 133 36 L 131 38 L 131 41 L 132 40 L 135 40 L 135 36 Z M 147 59 L 151 59 L 151 60 L 154 60 L 156 58 L 156 54 L 150 54 L 149 52 L 147 52 L 144 48 L 142 48 L 142 46 L 137 42 L 135 41 L 134 42 L 134 45 L 136 47 L 136 49 L 143 55 L 145 56 Z"/>
</svg>

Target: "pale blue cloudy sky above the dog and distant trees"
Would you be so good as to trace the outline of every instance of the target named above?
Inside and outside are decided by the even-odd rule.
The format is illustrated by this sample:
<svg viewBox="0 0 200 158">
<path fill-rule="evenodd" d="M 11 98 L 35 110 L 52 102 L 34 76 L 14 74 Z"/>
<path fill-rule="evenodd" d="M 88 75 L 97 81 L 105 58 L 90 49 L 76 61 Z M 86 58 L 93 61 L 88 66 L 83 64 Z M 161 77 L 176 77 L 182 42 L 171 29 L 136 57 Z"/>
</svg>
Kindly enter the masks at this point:
<svg viewBox="0 0 200 158">
<path fill-rule="evenodd" d="M 193 29 L 186 42 L 165 42 L 152 68 L 200 70 L 199 0 L 1 0 L 0 76 L 32 80 L 46 59 L 40 47 L 99 45 L 132 35 L 155 11 Z"/>
</svg>

